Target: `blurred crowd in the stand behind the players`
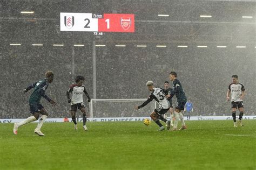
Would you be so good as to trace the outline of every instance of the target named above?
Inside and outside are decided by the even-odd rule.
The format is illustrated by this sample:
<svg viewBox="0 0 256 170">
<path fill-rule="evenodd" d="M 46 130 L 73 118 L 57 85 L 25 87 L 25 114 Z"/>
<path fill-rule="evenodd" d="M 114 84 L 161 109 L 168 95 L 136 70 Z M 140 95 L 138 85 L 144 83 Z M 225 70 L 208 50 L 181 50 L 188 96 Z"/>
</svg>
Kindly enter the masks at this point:
<svg viewBox="0 0 256 170">
<path fill-rule="evenodd" d="M 32 89 L 22 93 L 30 83 L 44 78 L 47 70 L 55 73 L 55 80 L 46 90 L 58 105 L 55 108 L 42 99 L 50 112 L 49 117 L 70 117 L 66 91 L 76 75 L 85 76 L 85 86 L 92 94 L 92 49 L 89 47 L 5 47 L 1 49 L 0 118 L 30 116 L 28 105 Z M 164 87 L 169 73 L 174 70 L 188 100 L 193 103 L 191 116 L 230 115 L 231 103 L 226 101 L 231 76 L 237 74 L 247 91 L 245 115 L 255 115 L 255 52 L 246 49 L 169 48 L 156 47 L 97 47 L 96 78 L 97 98 L 147 98 L 150 92 L 145 85 L 152 80 Z M 72 67 L 75 72 L 72 72 Z M 172 82 L 170 82 L 172 86 Z M 89 104 L 85 98 L 87 112 Z M 149 113 L 134 110 L 134 105 L 107 103 L 95 104 L 95 117 L 146 116 Z M 173 105 L 176 97 L 173 98 Z M 106 111 L 107 110 L 107 111 Z M 113 111 L 111 111 L 113 110 Z M 145 110 L 148 111 L 148 110 Z M 146 114 L 146 115 L 145 115 Z"/>
</svg>

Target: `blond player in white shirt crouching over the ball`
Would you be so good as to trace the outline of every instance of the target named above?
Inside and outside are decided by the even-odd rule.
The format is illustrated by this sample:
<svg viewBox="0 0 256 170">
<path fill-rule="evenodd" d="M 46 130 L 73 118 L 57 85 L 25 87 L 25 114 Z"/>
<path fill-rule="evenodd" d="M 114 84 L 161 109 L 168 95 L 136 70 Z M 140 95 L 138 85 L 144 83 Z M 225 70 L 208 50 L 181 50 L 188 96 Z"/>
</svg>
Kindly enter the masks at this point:
<svg viewBox="0 0 256 170">
<path fill-rule="evenodd" d="M 150 103 L 153 99 L 156 100 L 159 103 L 159 107 L 154 109 L 154 111 L 151 113 L 150 117 L 156 124 L 160 127 L 159 131 L 164 130 L 164 126 L 160 123 L 159 119 L 161 121 L 164 121 L 167 124 L 167 129 L 169 130 L 171 127 L 171 121 L 167 121 L 166 118 L 163 117 L 163 115 L 170 109 L 171 104 L 165 97 L 164 90 L 161 88 L 155 88 L 153 85 L 153 81 L 148 81 L 146 83 L 147 88 L 152 91 L 149 98 L 139 106 L 136 106 L 135 109 L 143 108 L 145 105 Z"/>
</svg>

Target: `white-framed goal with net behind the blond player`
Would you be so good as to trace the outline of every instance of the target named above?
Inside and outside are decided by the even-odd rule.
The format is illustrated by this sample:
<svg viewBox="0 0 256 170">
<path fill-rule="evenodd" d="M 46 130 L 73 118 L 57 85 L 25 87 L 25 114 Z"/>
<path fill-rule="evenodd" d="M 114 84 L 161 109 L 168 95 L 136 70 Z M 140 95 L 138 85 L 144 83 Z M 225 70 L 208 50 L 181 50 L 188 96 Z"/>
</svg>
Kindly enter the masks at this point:
<svg viewBox="0 0 256 170">
<path fill-rule="evenodd" d="M 147 98 L 92 99 L 90 117 L 148 117 L 157 106 L 155 101 L 139 110 L 135 109 L 136 105 L 140 105 L 146 100 Z"/>
</svg>

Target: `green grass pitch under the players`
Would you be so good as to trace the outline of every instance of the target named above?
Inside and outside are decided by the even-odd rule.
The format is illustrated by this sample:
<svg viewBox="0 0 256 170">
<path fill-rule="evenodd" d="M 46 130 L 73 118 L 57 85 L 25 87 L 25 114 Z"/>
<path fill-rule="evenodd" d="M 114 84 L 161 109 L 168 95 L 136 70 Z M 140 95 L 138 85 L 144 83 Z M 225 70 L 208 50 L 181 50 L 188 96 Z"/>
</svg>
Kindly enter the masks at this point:
<svg viewBox="0 0 256 170">
<path fill-rule="evenodd" d="M 161 131 L 153 122 L 0 124 L 0 169 L 256 169 L 256 121 L 187 121 L 184 131 Z M 248 134 L 224 136 L 224 134 Z"/>
</svg>

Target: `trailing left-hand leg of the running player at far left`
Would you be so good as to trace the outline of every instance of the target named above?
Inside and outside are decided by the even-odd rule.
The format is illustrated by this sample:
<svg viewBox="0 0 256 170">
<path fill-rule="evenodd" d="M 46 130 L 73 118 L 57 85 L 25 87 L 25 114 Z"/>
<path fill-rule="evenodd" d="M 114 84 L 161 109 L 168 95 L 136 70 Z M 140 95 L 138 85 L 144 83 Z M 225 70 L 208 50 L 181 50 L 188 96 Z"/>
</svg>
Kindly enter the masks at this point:
<svg viewBox="0 0 256 170">
<path fill-rule="evenodd" d="M 29 104 L 30 112 L 33 116 L 26 118 L 24 121 L 14 124 L 14 134 L 18 133 L 18 128 L 24 124 L 36 121 L 39 118 L 39 110 L 37 104 Z"/>
</svg>

